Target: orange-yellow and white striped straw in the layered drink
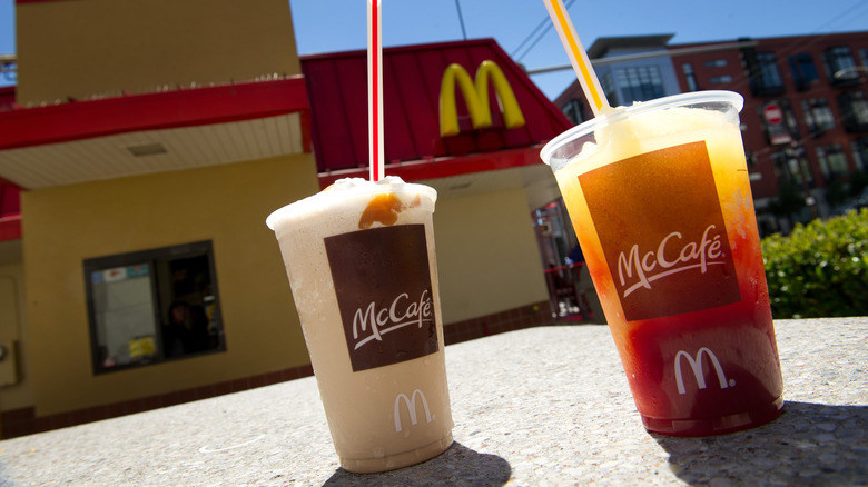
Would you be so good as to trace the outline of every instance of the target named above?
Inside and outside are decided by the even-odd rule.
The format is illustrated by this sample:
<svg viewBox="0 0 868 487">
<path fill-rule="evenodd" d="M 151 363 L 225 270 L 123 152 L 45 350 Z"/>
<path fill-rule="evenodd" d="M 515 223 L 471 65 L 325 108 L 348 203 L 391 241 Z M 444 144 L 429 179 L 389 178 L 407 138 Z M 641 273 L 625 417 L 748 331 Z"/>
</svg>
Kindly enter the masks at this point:
<svg viewBox="0 0 868 487">
<path fill-rule="evenodd" d="M 584 95 L 591 100 L 591 109 L 596 117 L 603 109 L 609 108 L 609 100 L 605 99 L 603 89 L 600 87 L 600 80 L 596 79 L 596 73 L 591 67 L 588 52 L 584 51 L 579 36 L 575 34 L 573 22 L 570 20 L 570 16 L 566 14 L 563 2 L 561 0 L 543 1 L 549 10 L 549 17 L 551 17 L 552 23 L 558 30 L 558 36 L 561 38 L 561 43 L 563 43 L 564 50 L 566 50 L 570 63 L 573 64 L 579 83 L 582 85 Z"/>
</svg>

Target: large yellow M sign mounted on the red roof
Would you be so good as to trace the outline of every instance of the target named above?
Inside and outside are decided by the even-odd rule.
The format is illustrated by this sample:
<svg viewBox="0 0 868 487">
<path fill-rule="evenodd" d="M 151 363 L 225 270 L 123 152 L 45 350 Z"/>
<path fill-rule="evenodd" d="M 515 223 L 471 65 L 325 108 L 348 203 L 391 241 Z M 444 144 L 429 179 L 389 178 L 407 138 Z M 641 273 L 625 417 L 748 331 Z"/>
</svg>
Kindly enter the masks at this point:
<svg viewBox="0 0 868 487">
<path fill-rule="evenodd" d="M 474 129 L 491 127 L 491 107 L 489 106 L 489 78 L 494 86 L 497 103 L 503 113 L 503 122 L 507 129 L 524 126 L 515 93 L 512 92 L 506 77 L 494 61 L 482 61 L 476 69 L 476 82 L 474 86 L 467 71 L 461 64 L 450 64 L 443 73 L 440 87 L 440 136 L 455 136 L 458 133 L 458 113 L 455 108 L 455 85 L 457 82 L 464 102 L 471 116 Z"/>
</svg>

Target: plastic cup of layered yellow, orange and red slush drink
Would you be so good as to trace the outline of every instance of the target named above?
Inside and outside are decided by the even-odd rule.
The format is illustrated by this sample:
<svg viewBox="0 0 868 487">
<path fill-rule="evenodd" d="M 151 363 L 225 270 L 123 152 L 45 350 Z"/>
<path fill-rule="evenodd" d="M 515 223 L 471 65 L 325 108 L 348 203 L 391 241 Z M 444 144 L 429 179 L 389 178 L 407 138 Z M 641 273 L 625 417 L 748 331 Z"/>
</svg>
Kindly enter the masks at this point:
<svg viewBox="0 0 868 487">
<path fill-rule="evenodd" d="M 746 429 L 783 404 L 742 101 L 707 91 L 619 108 L 542 151 L 652 431 Z"/>
</svg>

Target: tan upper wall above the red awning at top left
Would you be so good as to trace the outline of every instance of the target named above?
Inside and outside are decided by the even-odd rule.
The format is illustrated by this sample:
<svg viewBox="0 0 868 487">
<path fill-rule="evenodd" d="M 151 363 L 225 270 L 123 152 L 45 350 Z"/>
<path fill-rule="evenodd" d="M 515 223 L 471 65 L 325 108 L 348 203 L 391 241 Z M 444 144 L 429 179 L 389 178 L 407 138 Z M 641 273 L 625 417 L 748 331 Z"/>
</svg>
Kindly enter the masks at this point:
<svg viewBox="0 0 868 487">
<path fill-rule="evenodd" d="M 299 74 L 287 0 L 19 3 L 18 102 Z"/>
</svg>

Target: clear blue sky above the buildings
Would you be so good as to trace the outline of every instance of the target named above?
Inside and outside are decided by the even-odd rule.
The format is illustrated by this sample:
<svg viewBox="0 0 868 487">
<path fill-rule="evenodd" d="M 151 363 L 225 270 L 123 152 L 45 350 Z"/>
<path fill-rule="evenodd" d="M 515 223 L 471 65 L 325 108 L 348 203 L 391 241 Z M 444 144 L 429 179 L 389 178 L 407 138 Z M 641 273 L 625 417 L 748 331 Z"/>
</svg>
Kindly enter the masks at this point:
<svg viewBox="0 0 868 487">
<path fill-rule="evenodd" d="M 468 39 L 494 38 L 527 69 L 568 64 L 542 0 L 458 0 Z M 585 48 L 600 37 L 673 33 L 671 43 L 868 30 L 868 0 L 563 0 Z M 365 0 L 293 0 L 299 54 L 365 48 Z M 0 0 L 0 54 L 14 53 L 14 0 Z M 535 46 L 535 29 L 546 28 Z M 541 30 L 536 30 L 542 33 Z M 460 40 L 455 0 L 383 0 L 383 46 Z M 537 74 L 549 97 L 569 70 Z M 0 78 L 0 86 L 4 85 Z M 6 83 L 8 85 L 8 83 Z"/>
</svg>

